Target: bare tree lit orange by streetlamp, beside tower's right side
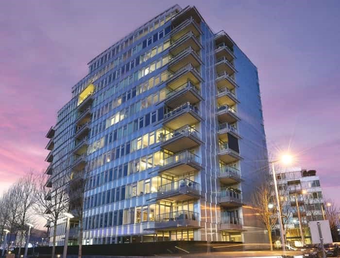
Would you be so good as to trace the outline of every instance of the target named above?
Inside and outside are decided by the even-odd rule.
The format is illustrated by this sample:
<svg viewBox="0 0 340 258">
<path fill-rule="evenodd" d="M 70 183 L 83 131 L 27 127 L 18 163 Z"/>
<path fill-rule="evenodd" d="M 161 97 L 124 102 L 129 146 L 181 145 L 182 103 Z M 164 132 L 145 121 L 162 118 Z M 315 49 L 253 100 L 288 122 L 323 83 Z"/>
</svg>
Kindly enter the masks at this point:
<svg viewBox="0 0 340 258">
<path fill-rule="evenodd" d="M 272 250 L 272 229 L 276 225 L 276 205 L 272 203 L 272 187 L 268 182 L 259 186 L 252 196 L 252 203 L 259 211 L 258 218 L 268 230 L 269 243 Z"/>
</svg>

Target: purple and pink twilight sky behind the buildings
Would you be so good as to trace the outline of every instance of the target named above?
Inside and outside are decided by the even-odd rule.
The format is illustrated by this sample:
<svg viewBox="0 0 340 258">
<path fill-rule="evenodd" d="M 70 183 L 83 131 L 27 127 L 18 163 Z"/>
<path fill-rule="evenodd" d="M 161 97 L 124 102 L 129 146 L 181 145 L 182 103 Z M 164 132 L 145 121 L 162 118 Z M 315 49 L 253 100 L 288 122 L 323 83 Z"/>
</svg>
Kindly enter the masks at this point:
<svg viewBox="0 0 340 258">
<path fill-rule="evenodd" d="M 173 1 L 2 1 L 0 189 L 47 164 L 45 134 L 87 62 Z M 180 1 L 258 67 L 268 147 L 340 192 L 340 1 Z M 0 190 L 0 191 L 1 191 Z M 337 196 L 337 197 L 335 197 Z M 340 200 L 336 200 L 340 205 Z"/>
</svg>

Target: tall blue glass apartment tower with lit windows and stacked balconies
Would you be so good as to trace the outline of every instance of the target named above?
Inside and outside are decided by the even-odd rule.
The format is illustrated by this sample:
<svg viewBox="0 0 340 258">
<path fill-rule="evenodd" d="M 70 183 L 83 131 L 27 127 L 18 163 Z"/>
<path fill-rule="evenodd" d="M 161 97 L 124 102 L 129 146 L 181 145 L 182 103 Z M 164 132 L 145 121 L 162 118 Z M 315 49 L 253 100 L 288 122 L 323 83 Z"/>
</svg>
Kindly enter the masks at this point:
<svg viewBox="0 0 340 258">
<path fill-rule="evenodd" d="M 267 164 L 257 68 L 226 32 L 174 5 L 88 67 L 46 160 L 51 191 L 86 178 L 84 244 L 267 242 L 250 203 Z"/>
</svg>

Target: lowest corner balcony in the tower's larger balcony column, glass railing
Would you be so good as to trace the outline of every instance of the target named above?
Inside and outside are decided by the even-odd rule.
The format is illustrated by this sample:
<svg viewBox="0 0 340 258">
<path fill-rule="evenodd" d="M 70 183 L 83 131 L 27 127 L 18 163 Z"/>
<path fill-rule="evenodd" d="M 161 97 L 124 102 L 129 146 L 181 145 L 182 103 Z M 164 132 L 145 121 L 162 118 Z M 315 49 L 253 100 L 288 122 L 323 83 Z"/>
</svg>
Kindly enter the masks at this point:
<svg viewBox="0 0 340 258">
<path fill-rule="evenodd" d="M 155 229 L 187 229 L 199 228 L 198 213 L 188 210 L 172 211 L 159 214 L 155 218 Z"/>
</svg>

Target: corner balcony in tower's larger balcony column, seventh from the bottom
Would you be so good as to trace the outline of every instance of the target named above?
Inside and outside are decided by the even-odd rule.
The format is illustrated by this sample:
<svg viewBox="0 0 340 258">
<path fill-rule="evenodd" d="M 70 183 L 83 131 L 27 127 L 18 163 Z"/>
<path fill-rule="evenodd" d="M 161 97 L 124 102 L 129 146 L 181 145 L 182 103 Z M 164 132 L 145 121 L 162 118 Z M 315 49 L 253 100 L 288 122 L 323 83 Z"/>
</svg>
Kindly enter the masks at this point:
<svg viewBox="0 0 340 258">
<path fill-rule="evenodd" d="M 167 86 L 171 89 L 175 89 L 188 81 L 191 81 L 191 83 L 195 85 L 198 85 L 203 81 L 200 72 L 192 64 L 187 64 L 175 73 L 170 73 L 167 80 Z"/>
</svg>

